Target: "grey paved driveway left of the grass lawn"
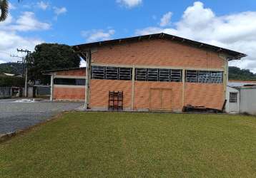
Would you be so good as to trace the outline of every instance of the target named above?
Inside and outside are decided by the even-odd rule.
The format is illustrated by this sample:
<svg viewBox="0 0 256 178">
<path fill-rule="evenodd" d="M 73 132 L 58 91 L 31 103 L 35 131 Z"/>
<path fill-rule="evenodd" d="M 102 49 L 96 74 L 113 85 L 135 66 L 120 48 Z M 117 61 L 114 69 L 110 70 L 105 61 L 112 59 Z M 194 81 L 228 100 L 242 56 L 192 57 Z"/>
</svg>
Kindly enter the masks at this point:
<svg viewBox="0 0 256 178">
<path fill-rule="evenodd" d="M 0 134 L 24 130 L 48 120 L 59 112 L 82 107 L 83 103 L 51 103 L 46 100 L 0 100 Z"/>
</svg>

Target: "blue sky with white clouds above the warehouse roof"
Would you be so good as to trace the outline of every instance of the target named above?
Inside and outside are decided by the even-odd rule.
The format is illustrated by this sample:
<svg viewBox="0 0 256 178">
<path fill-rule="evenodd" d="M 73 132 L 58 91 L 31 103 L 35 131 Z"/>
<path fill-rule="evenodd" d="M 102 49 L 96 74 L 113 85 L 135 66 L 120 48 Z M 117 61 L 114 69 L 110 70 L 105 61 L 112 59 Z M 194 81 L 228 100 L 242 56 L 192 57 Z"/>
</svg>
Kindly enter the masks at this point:
<svg viewBox="0 0 256 178">
<path fill-rule="evenodd" d="M 0 22 L 0 63 L 39 43 L 76 45 L 149 33 L 169 33 L 246 53 L 230 66 L 256 73 L 256 1 L 10 0 Z"/>
</svg>

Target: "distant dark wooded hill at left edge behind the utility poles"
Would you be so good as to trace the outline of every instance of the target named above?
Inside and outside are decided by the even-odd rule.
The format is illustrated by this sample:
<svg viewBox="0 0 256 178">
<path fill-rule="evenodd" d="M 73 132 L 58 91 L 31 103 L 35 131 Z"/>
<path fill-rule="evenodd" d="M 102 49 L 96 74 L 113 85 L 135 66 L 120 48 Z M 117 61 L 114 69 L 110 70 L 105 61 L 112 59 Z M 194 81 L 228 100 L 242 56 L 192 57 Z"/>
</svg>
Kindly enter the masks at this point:
<svg viewBox="0 0 256 178">
<path fill-rule="evenodd" d="M 0 63 L 0 73 L 22 73 L 22 63 Z"/>
</svg>

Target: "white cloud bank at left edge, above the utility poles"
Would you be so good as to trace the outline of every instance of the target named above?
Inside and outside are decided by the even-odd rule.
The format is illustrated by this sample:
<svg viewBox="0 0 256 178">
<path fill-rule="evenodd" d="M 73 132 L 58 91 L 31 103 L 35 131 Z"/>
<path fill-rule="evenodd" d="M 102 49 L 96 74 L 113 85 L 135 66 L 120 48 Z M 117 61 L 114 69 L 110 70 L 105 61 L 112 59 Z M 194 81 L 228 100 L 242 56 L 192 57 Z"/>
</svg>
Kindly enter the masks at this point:
<svg viewBox="0 0 256 178">
<path fill-rule="evenodd" d="M 48 23 L 38 21 L 34 13 L 24 12 L 18 18 L 9 14 L 6 21 L 0 23 L 0 60 L 3 62 L 16 62 L 19 58 L 11 58 L 10 55 L 24 56 L 17 53 L 16 48 L 26 48 L 34 51 L 34 46 L 44 42 L 40 38 L 26 38 L 19 35 L 19 31 L 37 31 L 47 30 L 50 28 Z"/>
</svg>

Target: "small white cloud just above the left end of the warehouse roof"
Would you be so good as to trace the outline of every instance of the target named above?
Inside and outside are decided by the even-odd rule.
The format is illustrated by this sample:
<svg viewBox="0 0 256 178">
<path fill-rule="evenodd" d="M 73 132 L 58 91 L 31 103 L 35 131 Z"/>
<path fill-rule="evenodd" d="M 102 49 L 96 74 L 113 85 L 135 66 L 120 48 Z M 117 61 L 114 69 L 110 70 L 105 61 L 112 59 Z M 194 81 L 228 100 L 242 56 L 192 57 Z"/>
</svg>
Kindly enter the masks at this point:
<svg viewBox="0 0 256 178">
<path fill-rule="evenodd" d="M 112 38 L 115 31 L 109 29 L 108 31 L 104 30 L 92 30 L 92 31 L 82 31 L 82 36 L 86 38 L 87 42 L 96 42 L 96 41 L 105 41 Z"/>
</svg>

